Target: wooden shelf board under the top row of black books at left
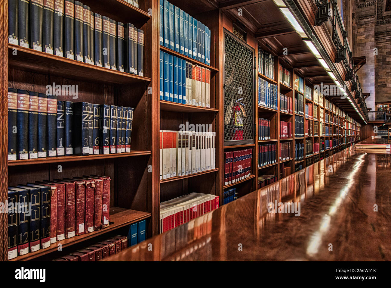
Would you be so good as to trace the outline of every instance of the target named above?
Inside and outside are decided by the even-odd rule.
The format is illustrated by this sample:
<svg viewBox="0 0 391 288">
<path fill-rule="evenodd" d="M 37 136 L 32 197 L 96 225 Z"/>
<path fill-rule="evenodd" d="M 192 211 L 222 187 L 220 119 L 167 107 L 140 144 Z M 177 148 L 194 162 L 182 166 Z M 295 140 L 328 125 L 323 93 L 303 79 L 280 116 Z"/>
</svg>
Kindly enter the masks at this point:
<svg viewBox="0 0 391 288">
<path fill-rule="evenodd" d="M 13 49 L 16 49 L 16 55 L 13 55 Z M 148 77 L 111 70 L 18 45 L 8 44 L 8 52 L 10 67 L 29 72 L 50 73 L 73 80 L 100 81 L 109 84 L 151 82 L 151 78 Z"/>
</svg>

